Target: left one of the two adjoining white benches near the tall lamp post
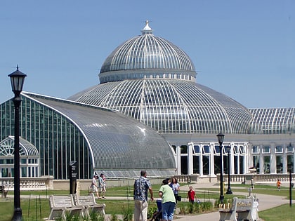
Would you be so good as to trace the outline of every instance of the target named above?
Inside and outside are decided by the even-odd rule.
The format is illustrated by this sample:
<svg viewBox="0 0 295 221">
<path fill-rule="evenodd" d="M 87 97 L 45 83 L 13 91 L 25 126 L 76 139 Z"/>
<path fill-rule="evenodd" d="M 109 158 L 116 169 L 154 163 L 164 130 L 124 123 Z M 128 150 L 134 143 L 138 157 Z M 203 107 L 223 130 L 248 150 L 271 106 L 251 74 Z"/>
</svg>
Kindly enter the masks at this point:
<svg viewBox="0 0 295 221">
<path fill-rule="evenodd" d="M 83 215 L 83 206 L 75 206 L 71 195 L 67 196 L 49 196 L 49 203 L 51 212 L 48 216 L 48 220 L 63 220 L 67 219 L 67 216 L 79 216 Z"/>
</svg>

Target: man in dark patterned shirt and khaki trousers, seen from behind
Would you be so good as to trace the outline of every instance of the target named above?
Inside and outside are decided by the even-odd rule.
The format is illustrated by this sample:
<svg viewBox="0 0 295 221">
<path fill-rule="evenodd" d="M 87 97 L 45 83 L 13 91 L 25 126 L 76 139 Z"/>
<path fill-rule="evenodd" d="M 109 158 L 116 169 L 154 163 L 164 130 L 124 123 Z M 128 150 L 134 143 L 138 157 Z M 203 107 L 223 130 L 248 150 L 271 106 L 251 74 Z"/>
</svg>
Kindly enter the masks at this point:
<svg viewBox="0 0 295 221">
<path fill-rule="evenodd" d="M 134 221 L 147 221 L 147 191 L 150 192 L 150 200 L 153 201 L 152 185 L 150 180 L 147 180 L 147 172 L 142 170 L 133 187 Z"/>
</svg>

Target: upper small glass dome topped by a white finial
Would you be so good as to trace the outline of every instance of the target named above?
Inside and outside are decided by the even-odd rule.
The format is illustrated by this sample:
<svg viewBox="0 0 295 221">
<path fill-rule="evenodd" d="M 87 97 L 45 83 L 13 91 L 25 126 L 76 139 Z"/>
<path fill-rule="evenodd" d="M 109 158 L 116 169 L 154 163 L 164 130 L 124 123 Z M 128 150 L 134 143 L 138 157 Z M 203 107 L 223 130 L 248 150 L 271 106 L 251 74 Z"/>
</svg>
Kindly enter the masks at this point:
<svg viewBox="0 0 295 221">
<path fill-rule="evenodd" d="M 195 81 L 195 67 L 181 48 L 153 35 L 148 21 L 141 32 L 107 57 L 100 69 L 100 83 L 144 78 Z"/>
</svg>

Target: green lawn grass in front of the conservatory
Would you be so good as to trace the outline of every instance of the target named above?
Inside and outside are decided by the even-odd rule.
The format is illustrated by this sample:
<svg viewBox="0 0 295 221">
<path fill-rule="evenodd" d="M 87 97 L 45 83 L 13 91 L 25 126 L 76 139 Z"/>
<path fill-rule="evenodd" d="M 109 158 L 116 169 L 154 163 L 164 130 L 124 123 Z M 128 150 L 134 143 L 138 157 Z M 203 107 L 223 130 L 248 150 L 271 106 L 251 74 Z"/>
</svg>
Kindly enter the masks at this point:
<svg viewBox="0 0 295 221">
<path fill-rule="evenodd" d="M 181 192 L 180 195 L 183 199 L 186 199 L 186 194 L 188 192 L 188 188 L 186 189 L 188 184 L 181 184 Z M 153 185 L 152 188 L 154 190 L 155 199 L 157 198 L 157 190 L 160 185 Z M 226 188 L 226 186 L 225 186 Z M 249 185 L 232 185 L 231 186 L 232 195 L 225 194 L 226 199 L 232 199 L 232 197 L 244 197 L 248 193 Z M 210 199 L 219 199 L 219 188 L 216 185 L 216 188 L 208 188 L 208 189 L 197 189 L 196 194 L 200 199 L 204 199 L 204 201 Z M 274 191 L 275 190 L 275 191 Z M 226 189 L 225 189 L 226 191 Z M 244 195 L 236 195 L 235 192 L 244 192 Z M 276 187 L 270 185 L 256 185 L 253 189 L 253 194 L 270 194 L 276 196 L 283 196 L 286 199 L 289 197 L 289 188 L 282 187 L 280 191 L 277 191 Z M 13 192 L 8 192 L 8 194 L 13 194 Z M 21 208 L 22 208 L 22 217 L 24 221 L 36 221 L 43 220 L 45 217 L 48 217 L 50 213 L 48 199 L 44 198 L 44 196 L 49 196 L 51 194 L 55 195 L 66 195 L 69 194 L 69 191 L 62 190 L 48 190 L 48 191 L 22 191 L 21 195 L 29 196 L 31 194 L 30 199 L 21 199 Z M 81 191 L 80 194 L 88 194 L 86 191 Z M 42 197 L 39 197 L 42 196 Z M 132 187 L 110 187 L 107 189 L 107 197 L 110 196 L 122 196 L 124 200 L 110 200 L 104 199 L 98 201 L 98 203 L 105 203 L 106 208 L 105 212 L 107 214 L 124 214 L 126 210 L 130 209 L 133 211 L 134 203 L 133 203 L 133 189 Z M 295 188 L 292 189 L 292 196 L 295 196 Z M 127 200 L 130 199 L 130 200 Z M 181 206 L 183 202 L 178 203 L 178 206 Z M 155 201 L 149 203 L 150 208 L 157 207 Z M 8 221 L 11 220 L 13 215 L 13 196 L 10 196 L 7 199 L 0 198 L 0 220 Z M 259 217 L 261 217 L 265 221 L 273 221 L 273 220 L 291 220 L 291 217 L 295 215 L 295 206 L 292 208 L 289 205 L 280 206 L 277 208 L 272 208 L 270 210 L 259 211 Z M 293 219 L 294 220 L 294 219 Z"/>
</svg>

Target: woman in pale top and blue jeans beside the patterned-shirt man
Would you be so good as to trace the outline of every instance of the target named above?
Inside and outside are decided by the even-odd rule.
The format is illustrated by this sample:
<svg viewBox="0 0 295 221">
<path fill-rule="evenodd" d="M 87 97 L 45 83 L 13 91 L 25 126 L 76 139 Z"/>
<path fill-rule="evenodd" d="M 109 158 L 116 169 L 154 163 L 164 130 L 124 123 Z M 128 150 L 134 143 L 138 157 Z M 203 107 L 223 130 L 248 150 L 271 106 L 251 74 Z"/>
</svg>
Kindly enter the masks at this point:
<svg viewBox="0 0 295 221">
<path fill-rule="evenodd" d="M 169 186 L 169 179 L 162 181 L 162 187 L 159 189 L 159 196 L 162 197 L 162 220 L 173 220 L 176 199 L 173 190 Z"/>
</svg>

